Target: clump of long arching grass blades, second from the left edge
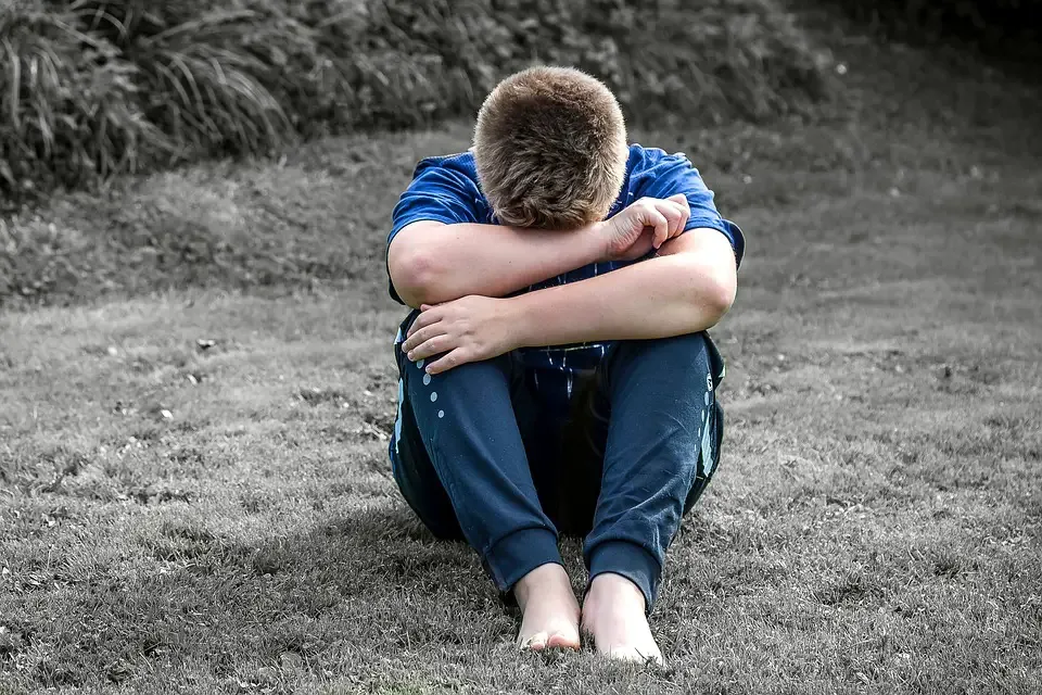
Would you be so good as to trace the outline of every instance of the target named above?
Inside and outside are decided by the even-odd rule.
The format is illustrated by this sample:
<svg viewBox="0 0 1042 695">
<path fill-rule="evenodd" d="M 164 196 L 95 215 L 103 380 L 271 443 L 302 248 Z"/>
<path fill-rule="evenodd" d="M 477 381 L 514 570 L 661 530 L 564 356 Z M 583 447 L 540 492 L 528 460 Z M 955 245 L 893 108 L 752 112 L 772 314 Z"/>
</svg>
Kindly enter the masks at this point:
<svg viewBox="0 0 1042 695">
<path fill-rule="evenodd" d="M 265 152 L 287 141 L 289 121 L 268 85 L 282 77 L 280 45 L 307 40 L 302 27 L 240 2 L 219 10 L 152 0 L 77 4 L 84 28 L 136 66 L 142 109 L 179 156 Z"/>
</svg>

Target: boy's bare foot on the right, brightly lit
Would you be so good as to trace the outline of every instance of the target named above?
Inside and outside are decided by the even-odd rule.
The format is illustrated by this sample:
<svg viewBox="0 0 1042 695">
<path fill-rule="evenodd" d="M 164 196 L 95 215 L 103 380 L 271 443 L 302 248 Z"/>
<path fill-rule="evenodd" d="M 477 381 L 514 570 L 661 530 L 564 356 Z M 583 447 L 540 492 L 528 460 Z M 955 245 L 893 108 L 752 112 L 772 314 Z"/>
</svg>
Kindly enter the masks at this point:
<svg viewBox="0 0 1042 695">
<path fill-rule="evenodd" d="M 621 574 L 598 574 L 583 603 L 583 630 L 594 639 L 597 652 L 609 658 L 662 666 L 644 609 L 644 594 L 636 584 Z"/>
</svg>

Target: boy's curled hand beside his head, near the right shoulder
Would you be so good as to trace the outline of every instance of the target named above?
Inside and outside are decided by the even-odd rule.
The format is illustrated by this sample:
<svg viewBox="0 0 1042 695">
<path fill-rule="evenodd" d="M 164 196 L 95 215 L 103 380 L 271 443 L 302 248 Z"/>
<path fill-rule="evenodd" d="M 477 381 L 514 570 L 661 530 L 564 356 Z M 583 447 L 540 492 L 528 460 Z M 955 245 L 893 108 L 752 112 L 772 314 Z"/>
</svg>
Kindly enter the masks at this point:
<svg viewBox="0 0 1042 695">
<path fill-rule="evenodd" d="M 679 236 L 690 216 L 691 208 L 683 193 L 664 200 L 641 198 L 611 219 L 599 223 L 606 256 L 612 261 L 640 258 Z"/>
</svg>

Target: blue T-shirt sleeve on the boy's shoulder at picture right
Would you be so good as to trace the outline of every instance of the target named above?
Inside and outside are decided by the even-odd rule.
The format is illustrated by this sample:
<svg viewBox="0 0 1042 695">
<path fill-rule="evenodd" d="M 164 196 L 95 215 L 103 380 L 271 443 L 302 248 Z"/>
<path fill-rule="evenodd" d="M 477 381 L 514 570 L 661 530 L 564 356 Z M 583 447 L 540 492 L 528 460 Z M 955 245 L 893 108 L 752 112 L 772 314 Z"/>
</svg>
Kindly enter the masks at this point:
<svg viewBox="0 0 1042 695">
<path fill-rule="evenodd" d="M 691 216 L 684 231 L 700 227 L 716 229 L 730 241 L 735 261 L 741 265 L 746 239 L 735 223 L 724 219 L 713 203 L 713 191 L 706 187 L 698 169 L 684 154 L 666 154 L 661 150 L 646 150 L 645 164 L 634 177 L 634 198 L 669 198 L 677 193 L 687 197 Z"/>
</svg>

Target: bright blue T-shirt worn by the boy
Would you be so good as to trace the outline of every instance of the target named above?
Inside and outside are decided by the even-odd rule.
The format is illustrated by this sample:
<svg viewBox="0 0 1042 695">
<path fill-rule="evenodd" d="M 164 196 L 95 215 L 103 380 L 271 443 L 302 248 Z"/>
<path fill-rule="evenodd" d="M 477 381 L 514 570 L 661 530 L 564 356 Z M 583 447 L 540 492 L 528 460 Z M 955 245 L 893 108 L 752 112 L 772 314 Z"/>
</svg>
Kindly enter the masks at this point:
<svg viewBox="0 0 1042 695">
<path fill-rule="evenodd" d="M 666 154 L 658 148 L 630 146 L 630 159 L 626 161 L 626 176 L 622 191 L 608 213 L 617 214 L 630 203 L 641 198 L 664 199 L 684 193 L 691 208 L 685 231 L 699 227 L 717 229 L 730 241 L 735 258 L 740 264 L 745 252 L 745 238 L 738 225 L 723 219 L 713 204 L 713 192 L 702 182 L 698 169 L 684 154 Z M 420 220 L 441 222 L 446 225 L 475 223 L 494 225 L 488 201 L 481 192 L 473 152 L 462 152 L 447 156 L 428 157 L 421 161 L 412 174 L 412 182 L 398 199 L 392 212 L 391 233 L 387 245 L 405 226 Z M 566 285 L 603 275 L 628 263 L 592 263 L 522 290 L 532 291 L 555 285 Z M 403 303 L 394 285 L 390 285 L 391 296 Z M 525 367 L 533 370 L 533 381 L 541 390 L 550 382 L 560 382 L 563 390 L 571 394 L 573 375 L 576 371 L 596 367 L 605 356 L 609 343 L 580 343 L 575 345 L 556 345 L 550 348 L 526 348 L 521 351 Z M 555 390 L 557 390 L 555 388 Z"/>
</svg>

